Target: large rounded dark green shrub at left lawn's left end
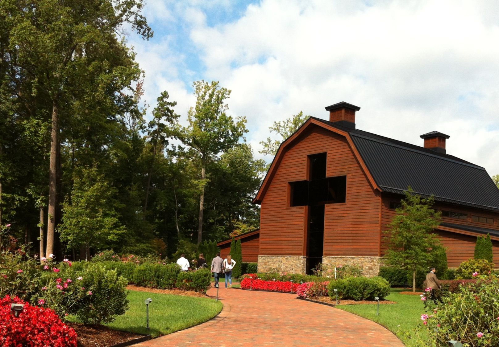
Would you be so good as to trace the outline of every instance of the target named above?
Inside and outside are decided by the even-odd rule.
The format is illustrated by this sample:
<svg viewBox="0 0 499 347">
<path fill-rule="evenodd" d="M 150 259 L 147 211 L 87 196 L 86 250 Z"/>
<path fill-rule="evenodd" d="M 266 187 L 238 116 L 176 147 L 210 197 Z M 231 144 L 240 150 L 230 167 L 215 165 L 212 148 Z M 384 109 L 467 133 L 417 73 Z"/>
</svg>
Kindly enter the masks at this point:
<svg viewBox="0 0 499 347">
<path fill-rule="evenodd" d="M 78 284 L 85 288 L 86 295 L 75 314 L 83 323 L 110 323 L 116 316 L 125 314 L 128 310 L 126 278 L 98 264 L 88 266 L 80 276 Z"/>
</svg>

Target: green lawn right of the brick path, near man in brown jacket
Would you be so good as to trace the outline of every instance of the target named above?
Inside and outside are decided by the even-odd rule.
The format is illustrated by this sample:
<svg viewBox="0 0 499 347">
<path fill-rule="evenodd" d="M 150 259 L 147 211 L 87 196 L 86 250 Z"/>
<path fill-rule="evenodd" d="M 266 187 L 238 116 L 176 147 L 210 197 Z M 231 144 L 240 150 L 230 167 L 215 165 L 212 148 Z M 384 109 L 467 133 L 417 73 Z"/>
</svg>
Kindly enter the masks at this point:
<svg viewBox="0 0 499 347">
<path fill-rule="evenodd" d="M 407 291 L 407 289 L 392 289 L 391 294 L 385 299 L 395 301 L 397 304 L 380 305 L 379 316 L 376 316 L 376 305 L 338 305 L 336 307 L 379 323 L 394 332 L 406 346 L 415 346 L 410 339 L 407 339 L 404 331 L 412 332 L 415 328 L 422 327 L 421 315 L 425 313 L 423 302 L 419 295 L 399 294 L 402 291 Z"/>
</svg>

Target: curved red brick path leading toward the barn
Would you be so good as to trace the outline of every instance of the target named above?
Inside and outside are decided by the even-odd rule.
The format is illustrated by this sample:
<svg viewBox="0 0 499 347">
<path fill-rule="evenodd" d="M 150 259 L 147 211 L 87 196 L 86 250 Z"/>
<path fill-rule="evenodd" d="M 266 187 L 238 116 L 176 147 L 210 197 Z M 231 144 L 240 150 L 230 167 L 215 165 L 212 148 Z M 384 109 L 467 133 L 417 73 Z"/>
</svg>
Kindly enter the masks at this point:
<svg viewBox="0 0 499 347">
<path fill-rule="evenodd" d="M 404 346 L 382 326 L 330 306 L 223 286 L 224 309 L 213 320 L 134 346 Z M 215 288 L 208 291 L 216 294 Z"/>
</svg>

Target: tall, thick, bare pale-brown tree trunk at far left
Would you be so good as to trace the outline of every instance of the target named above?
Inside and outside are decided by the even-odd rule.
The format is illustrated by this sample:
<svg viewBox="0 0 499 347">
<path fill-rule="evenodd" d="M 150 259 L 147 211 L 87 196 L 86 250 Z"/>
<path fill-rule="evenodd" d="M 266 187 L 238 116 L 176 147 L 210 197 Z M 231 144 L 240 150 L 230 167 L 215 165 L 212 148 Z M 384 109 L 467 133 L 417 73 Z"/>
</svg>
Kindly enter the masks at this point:
<svg viewBox="0 0 499 347">
<path fill-rule="evenodd" d="M 49 166 L 49 192 L 48 192 L 48 218 L 47 218 L 47 248 L 45 254 L 54 253 L 55 232 L 55 207 L 57 205 L 57 136 L 59 133 L 59 108 L 57 101 L 52 102 L 52 130 L 50 141 L 50 166 Z"/>
</svg>

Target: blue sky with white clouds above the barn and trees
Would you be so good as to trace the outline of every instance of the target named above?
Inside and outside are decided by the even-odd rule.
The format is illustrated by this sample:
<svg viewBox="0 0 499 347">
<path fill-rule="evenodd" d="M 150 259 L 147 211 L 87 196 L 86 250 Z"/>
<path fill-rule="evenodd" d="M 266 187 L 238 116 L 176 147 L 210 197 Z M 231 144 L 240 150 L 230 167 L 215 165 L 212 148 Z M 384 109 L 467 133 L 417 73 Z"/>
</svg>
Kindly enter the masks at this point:
<svg viewBox="0 0 499 347">
<path fill-rule="evenodd" d="M 148 0 L 144 14 L 154 37 L 128 40 L 146 102 L 167 90 L 185 119 L 192 82 L 220 81 L 257 157 L 274 121 L 346 101 L 358 129 L 420 146 L 437 130 L 499 174 L 499 1 Z"/>
</svg>

